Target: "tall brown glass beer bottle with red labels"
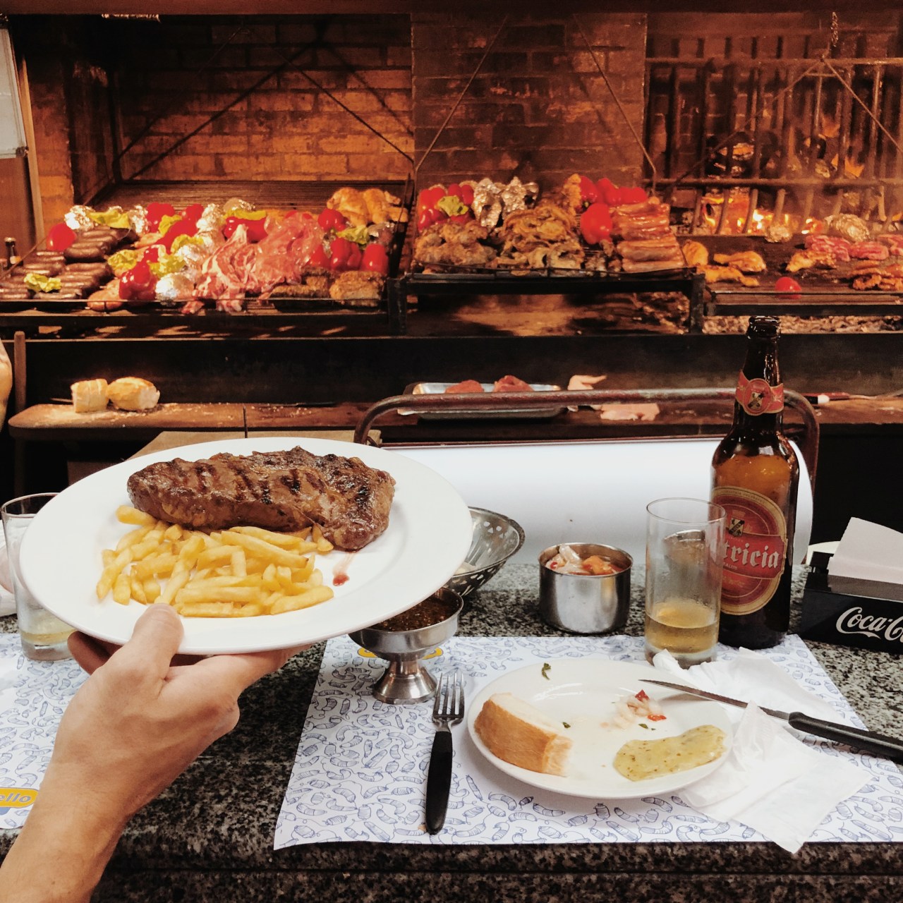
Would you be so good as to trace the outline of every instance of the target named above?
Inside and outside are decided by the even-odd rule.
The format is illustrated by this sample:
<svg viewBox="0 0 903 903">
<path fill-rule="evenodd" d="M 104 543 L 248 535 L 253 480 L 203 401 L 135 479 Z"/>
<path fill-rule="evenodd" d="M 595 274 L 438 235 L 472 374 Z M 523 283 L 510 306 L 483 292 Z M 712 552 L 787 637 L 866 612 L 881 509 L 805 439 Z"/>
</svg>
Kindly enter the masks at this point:
<svg viewBox="0 0 903 903">
<path fill-rule="evenodd" d="M 731 431 L 712 458 L 712 501 L 727 511 L 721 624 L 728 646 L 776 646 L 790 620 L 799 464 L 781 428 L 778 321 L 750 317 Z"/>
</svg>

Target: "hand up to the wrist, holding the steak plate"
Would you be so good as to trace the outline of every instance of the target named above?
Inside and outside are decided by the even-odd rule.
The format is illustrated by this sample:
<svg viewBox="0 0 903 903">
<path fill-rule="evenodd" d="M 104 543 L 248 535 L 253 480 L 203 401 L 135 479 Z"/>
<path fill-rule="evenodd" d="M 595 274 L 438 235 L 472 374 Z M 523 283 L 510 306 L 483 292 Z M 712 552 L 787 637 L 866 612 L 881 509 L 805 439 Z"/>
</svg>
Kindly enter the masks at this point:
<svg viewBox="0 0 903 903">
<path fill-rule="evenodd" d="M 42 794 L 60 783 L 79 787 L 101 817 L 126 824 L 236 726 L 242 691 L 305 648 L 174 664 L 182 633 L 170 606 L 152 605 L 112 654 L 83 634 L 70 637 L 91 676 L 63 715 Z"/>
</svg>

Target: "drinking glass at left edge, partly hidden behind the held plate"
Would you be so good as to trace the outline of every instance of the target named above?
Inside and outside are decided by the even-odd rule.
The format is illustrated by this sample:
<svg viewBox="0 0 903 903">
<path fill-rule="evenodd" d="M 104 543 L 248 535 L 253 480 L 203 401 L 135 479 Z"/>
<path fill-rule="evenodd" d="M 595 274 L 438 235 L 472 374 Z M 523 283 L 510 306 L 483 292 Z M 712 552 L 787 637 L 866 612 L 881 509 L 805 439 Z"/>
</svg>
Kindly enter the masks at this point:
<svg viewBox="0 0 903 903">
<path fill-rule="evenodd" d="M 26 658 L 38 661 L 56 661 L 69 658 L 66 638 L 72 632 L 68 624 L 46 610 L 25 586 L 19 567 L 19 551 L 23 536 L 34 516 L 56 495 L 55 492 L 41 492 L 33 496 L 12 498 L 0 507 L 3 530 L 6 537 L 6 555 L 9 559 L 9 573 L 13 580 L 15 614 L 19 620 L 19 635 L 22 651 Z"/>
</svg>

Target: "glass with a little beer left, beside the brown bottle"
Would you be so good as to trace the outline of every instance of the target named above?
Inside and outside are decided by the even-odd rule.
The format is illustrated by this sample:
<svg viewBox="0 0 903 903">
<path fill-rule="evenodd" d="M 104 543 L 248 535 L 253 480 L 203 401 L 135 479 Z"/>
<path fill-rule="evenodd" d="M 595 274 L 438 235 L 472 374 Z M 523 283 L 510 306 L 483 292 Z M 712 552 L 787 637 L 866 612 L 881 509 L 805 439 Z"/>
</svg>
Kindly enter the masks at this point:
<svg viewBox="0 0 903 903">
<path fill-rule="evenodd" d="M 648 661 L 667 649 L 681 667 L 711 662 L 718 642 L 724 508 L 700 498 L 647 505 Z"/>
</svg>

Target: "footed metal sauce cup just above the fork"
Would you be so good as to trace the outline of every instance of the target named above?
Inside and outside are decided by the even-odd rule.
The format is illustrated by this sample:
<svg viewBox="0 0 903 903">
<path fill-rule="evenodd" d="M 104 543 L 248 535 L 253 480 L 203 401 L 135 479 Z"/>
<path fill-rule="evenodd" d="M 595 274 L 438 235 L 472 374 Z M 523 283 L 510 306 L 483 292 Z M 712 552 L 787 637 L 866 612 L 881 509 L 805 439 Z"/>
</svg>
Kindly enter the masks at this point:
<svg viewBox="0 0 903 903">
<path fill-rule="evenodd" d="M 373 695 L 381 703 L 423 703 L 436 692 L 433 675 L 424 668 L 421 659 L 454 636 L 463 602 L 459 593 L 445 587 L 429 598 L 447 607 L 450 614 L 446 619 L 413 630 L 368 627 L 349 634 L 355 643 L 389 663 L 385 673 L 373 684 Z"/>
</svg>

